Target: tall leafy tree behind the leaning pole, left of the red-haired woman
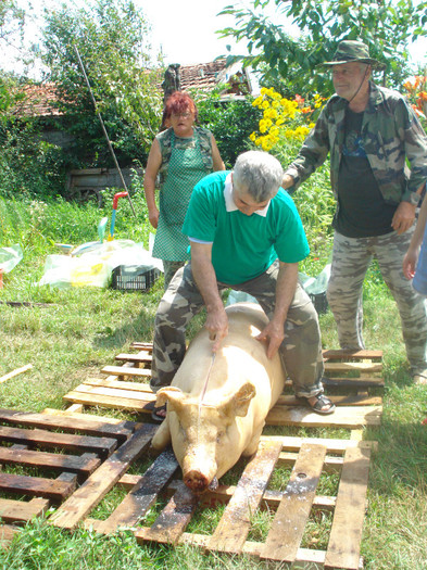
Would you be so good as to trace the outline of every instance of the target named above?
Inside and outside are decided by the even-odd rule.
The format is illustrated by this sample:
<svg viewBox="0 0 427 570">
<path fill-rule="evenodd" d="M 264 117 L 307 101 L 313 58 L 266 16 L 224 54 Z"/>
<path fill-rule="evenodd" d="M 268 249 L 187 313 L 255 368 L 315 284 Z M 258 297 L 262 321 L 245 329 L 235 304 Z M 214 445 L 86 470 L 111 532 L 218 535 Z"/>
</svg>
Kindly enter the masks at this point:
<svg viewBox="0 0 427 570">
<path fill-rule="evenodd" d="M 91 165 L 111 164 L 102 130 L 74 47 L 84 62 L 117 157 L 145 160 L 158 130 L 162 98 L 159 66 L 147 40 L 150 28 L 131 0 L 92 0 L 84 9 L 65 4 L 46 11 L 46 78 L 58 87 L 58 103 L 76 137 L 76 151 Z M 86 163 L 87 164 L 87 163 Z M 88 164 L 87 164 L 88 165 Z"/>
</svg>

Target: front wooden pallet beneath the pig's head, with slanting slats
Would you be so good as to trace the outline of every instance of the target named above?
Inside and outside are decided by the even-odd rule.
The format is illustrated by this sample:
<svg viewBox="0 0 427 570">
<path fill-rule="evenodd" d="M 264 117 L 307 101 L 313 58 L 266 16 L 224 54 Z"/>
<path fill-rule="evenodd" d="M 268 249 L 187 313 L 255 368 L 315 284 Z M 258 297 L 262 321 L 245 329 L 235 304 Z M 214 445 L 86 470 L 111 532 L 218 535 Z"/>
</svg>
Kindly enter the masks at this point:
<svg viewBox="0 0 427 570">
<path fill-rule="evenodd" d="M 367 442 L 263 436 L 256 455 L 246 465 L 235 486 L 219 485 L 198 497 L 180 480 L 169 482 L 177 464 L 172 452 L 166 451 L 142 476 L 117 480 L 128 493 L 105 520 L 89 517 L 108 487 L 111 489 L 111 485 L 100 487 L 99 476 L 93 473 L 49 521 L 65 529 L 84 524 L 103 534 L 133 529 L 141 543 L 185 543 L 209 552 L 244 553 L 265 560 L 356 570 L 369 455 Z M 269 490 L 268 481 L 281 465 L 292 468 L 287 487 L 282 492 Z M 338 493 L 319 495 L 316 492 L 319 478 L 330 470 L 340 473 Z M 165 507 L 152 524 L 145 525 L 148 510 L 162 494 L 169 497 Z M 197 514 L 218 504 L 226 507 L 212 534 L 187 531 Z M 272 512 L 269 530 L 265 540 L 253 541 L 252 522 L 262 509 Z M 304 548 L 301 543 L 306 527 L 319 510 L 329 511 L 332 518 L 327 548 Z"/>
</svg>

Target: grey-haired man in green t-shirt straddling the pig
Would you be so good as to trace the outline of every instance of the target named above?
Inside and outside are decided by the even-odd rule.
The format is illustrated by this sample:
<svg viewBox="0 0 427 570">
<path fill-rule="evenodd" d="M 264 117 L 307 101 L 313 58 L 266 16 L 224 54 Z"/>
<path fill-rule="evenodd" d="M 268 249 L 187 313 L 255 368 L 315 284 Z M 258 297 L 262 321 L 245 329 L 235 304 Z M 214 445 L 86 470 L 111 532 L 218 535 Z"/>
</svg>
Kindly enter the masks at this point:
<svg viewBox="0 0 427 570">
<path fill-rule="evenodd" d="M 175 274 L 155 316 L 153 391 L 171 384 L 187 325 L 203 306 L 212 350 L 218 350 L 228 331 L 221 292 L 233 288 L 254 296 L 269 318 L 258 338 L 267 341 L 268 357 L 280 352 L 297 396 L 314 411 L 334 411 L 321 381 L 317 314 L 298 282 L 298 263 L 310 249 L 292 199 L 280 188 L 282 174 L 274 156 L 249 151 L 231 173 L 214 173 L 194 187 L 183 226 L 191 261 Z M 153 417 L 164 415 L 158 409 Z"/>
</svg>

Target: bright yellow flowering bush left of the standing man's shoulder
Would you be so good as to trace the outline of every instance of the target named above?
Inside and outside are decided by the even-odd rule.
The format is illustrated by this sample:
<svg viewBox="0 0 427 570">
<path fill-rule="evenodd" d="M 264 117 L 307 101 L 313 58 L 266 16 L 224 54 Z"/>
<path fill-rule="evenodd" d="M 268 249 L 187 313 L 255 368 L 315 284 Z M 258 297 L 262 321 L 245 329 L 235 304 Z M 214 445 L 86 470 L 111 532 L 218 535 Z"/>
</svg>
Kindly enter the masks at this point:
<svg viewBox="0 0 427 570">
<path fill-rule="evenodd" d="M 263 87 L 252 103 L 263 112 L 259 132 L 252 132 L 249 138 L 264 151 L 271 151 L 282 139 L 301 143 L 314 127 L 313 115 L 322 104 L 323 98 L 317 93 L 311 106 L 299 94 L 291 101 L 273 88 Z"/>
</svg>

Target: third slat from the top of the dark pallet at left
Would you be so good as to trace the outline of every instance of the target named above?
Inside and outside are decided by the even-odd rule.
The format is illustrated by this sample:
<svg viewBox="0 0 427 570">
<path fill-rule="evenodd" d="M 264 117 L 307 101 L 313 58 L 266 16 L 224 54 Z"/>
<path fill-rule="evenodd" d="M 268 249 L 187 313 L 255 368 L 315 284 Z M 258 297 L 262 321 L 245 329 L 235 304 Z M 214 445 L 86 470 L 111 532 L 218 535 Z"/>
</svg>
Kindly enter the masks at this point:
<svg viewBox="0 0 427 570">
<path fill-rule="evenodd" d="M 101 465 L 101 459 L 96 455 L 78 457 L 76 455 L 0 447 L 0 464 L 25 465 L 54 471 L 71 471 L 72 473 L 88 477 Z"/>
</svg>

